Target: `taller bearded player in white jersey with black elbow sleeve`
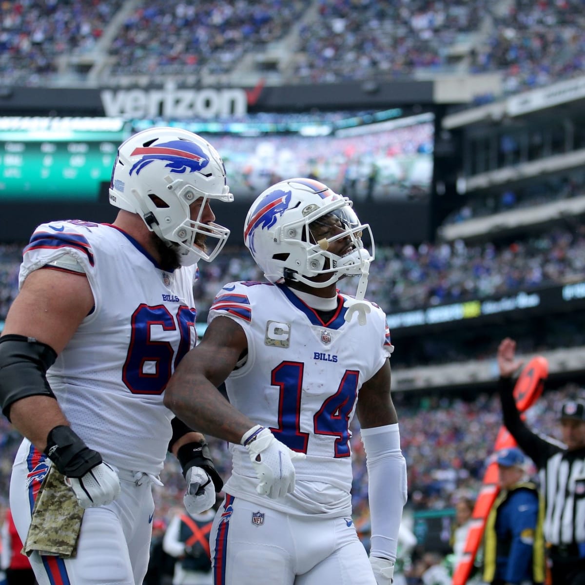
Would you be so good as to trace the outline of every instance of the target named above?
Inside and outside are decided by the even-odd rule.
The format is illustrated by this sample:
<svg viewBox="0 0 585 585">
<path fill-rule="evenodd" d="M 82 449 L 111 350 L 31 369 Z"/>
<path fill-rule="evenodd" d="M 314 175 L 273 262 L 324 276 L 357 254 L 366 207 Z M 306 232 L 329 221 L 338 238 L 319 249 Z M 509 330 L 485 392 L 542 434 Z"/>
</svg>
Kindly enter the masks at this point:
<svg viewBox="0 0 585 585">
<path fill-rule="evenodd" d="M 196 263 L 229 235 L 210 207 L 233 200 L 223 161 L 191 132 L 144 130 L 119 147 L 109 197 L 112 225 L 35 230 L 0 338 L 2 410 L 25 436 L 10 493 L 20 537 L 51 465 L 85 509 L 74 558 L 30 556 L 40 585 L 142 585 L 167 450 L 190 512 L 211 507 L 222 486 L 204 437 L 163 394 L 195 346 Z"/>
</svg>

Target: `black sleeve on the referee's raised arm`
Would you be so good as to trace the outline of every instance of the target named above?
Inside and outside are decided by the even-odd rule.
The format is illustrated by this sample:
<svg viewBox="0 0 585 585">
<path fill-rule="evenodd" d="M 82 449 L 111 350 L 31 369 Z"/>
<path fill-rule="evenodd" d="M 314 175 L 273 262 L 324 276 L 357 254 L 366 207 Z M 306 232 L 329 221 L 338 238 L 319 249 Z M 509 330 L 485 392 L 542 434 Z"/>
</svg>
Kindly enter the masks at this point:
<svg viewBox="0 0 585 585">
<path fill-rule="evenodd" d="M 516 402 L 514 400 L 514 381 L 512 378 L 500 378 L 498 380 L 498 394 L 502 404 L 504 426 L 514 437 L 518 446 L 536 464 L 538 469 L 546 465 L 549 457 L 562 450 L 558 445 L 546 441 L 532 432 L 520 418 Z"/>
</svg>

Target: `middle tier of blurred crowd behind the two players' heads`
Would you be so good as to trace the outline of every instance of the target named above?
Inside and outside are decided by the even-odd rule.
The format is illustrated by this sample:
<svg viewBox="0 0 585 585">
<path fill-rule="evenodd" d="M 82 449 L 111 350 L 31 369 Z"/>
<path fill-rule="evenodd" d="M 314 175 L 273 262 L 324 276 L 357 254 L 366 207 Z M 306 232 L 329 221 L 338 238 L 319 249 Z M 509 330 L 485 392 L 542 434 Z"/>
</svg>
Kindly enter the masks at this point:
<svg viewBox="0 0 585 585">
<path fill-rule="evenodd" d="M 0 320 L 16 295 L 22 247 L 0 244 Z M 368 297 L 392 314 L 565 284 L 584 273 L 585 226 L 576 223 L 507 242 L 378 246 Z M 213 263 L 199 263 L 195 283 L 199 321 L 204 321 L 223 284 L 238 280 L 264 280 L 245 249 L 226 249 Z M 347 278 L 339 288 L 354 294 L 355 284 Z"/>
</svg>

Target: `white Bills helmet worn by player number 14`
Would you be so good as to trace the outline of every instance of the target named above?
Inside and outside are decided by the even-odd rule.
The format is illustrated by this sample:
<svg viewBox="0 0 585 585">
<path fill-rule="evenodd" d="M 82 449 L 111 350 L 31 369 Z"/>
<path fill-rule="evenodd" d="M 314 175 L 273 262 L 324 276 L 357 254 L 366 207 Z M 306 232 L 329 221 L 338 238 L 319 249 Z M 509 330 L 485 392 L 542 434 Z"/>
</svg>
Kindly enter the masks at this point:
<svg viewBox="0 0 585 585">
<path fill-rule="evenodd" d="M 244 223 L 244 242 L 271 283 L 286 277 L 321 288 L 347 274 L 364 275 L 367 283 L 374 259 L 374 239 L 370 226 L 359 222 L 352 205 L 350 199 L 314 179 L 281 181 L 267 188 L 250 207 Z M 311 223 L 330 214 L 345 229 L 316 242 Z M 371 251 L 363 245 L 363 232 L 369 233 Z M 328 251 L 332 242 L 348 236 L 353 245 L 349 253 L 337 256 Z M 319 282 L 309 280 L 319 274 L 329 277 Z"/>
</svg>

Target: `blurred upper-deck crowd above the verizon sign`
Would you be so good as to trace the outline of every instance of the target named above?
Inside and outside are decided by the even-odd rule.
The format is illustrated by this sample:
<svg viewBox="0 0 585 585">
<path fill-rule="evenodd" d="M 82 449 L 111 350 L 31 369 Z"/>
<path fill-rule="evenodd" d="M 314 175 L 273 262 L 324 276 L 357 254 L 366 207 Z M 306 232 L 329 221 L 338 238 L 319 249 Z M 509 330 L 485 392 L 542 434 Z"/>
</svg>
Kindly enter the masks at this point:
<svg viewBox="0 0 585 585">
<path fill-rule="evenodd" d="M 580 0 L 4 0 L 0 78 L 42 85 L 69 57 L 99 61 L 101 81 L 242 71 L 284 43 L 283 82 L 503 74 L 504 92 L 583 70 Z M 253 60 L 253 59 L 252 59 Z M 87 62 L 90 62 L 87 61 Z M 87 71 L 86 71 L 87 73 Z"/>
</svg>

